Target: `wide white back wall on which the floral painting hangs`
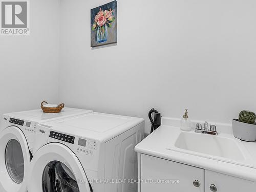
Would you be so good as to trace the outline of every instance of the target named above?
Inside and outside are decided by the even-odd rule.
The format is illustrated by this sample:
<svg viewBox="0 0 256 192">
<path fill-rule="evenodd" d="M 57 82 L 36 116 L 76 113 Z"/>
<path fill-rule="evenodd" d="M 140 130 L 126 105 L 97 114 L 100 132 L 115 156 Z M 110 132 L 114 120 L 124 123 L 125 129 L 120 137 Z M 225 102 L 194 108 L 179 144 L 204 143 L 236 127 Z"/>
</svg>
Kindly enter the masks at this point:
<svg viewBox="0 0 256 192">
<path fill-rule="evenodd" d="M 231 122 L 256 111 L 256 2 L 119 0 L 118 44 L 90 48 L 90 9 L 61 0 L 60 101 L 94 111 Z"/>
</svg>

